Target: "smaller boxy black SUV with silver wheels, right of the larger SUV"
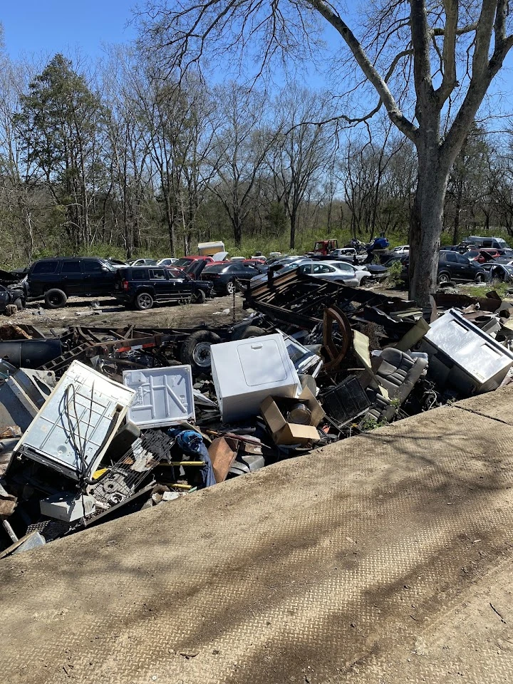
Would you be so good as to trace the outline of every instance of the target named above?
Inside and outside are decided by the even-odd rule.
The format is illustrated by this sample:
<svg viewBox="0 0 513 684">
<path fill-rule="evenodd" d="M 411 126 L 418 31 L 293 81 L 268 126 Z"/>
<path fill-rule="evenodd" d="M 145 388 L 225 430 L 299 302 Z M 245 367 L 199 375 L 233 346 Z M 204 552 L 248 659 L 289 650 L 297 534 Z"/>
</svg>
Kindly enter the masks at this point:
<svg viewBox="0 0 513 684">
<path fill-rule="evenodd" d="M 194 301 L 202 304 L 210 295 L 212 285 L 192 280 L 180 269 L 158 266 L 132 266 L 117 269 L 115 297 L 125 306 L 144 311 L 155 301 Z"/>
</svg>

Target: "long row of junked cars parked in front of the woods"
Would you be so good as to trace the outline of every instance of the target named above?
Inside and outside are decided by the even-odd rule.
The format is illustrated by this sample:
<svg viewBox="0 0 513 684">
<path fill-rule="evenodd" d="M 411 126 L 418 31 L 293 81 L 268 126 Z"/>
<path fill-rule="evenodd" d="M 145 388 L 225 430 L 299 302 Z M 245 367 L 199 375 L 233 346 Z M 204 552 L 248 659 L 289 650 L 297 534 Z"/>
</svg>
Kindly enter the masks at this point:
<svg viewBox="0 0 513 684">
<path fill-rule="evenodd" d="M 460 254 L 464 244 L 475 245 L 475 249 Z M 130 264 L 102 257 L 50 257 L 16 273 L 5 271 L 9 277 L 7 281 L 0 277 L 0 311 L 7 304 L 22 308 L 26 299 L 44 299 L 48 308 L 57 309 L 65 306 L 70 296 L 113 295 L 125 306 L 140 310 L 163 301 L 201 303 L 211 294 L 233 294 L 250 282 L 252 286 L 258 284 L 267 278 L 269 267 L 273 272 L 298 267 L 301 274 L 361 286 L 384 278 L 387 266 L 399 259 L 403 279 L 408 281 L 409 249 L 408 245 L 393 247 L 384 266 L 363 264 L 366 253 L 348 246 L 323 257 L 281 257 L 274 253 L 280 258 L 269 257 L 269 261 L 259 252 L 250 259 L 228 260 L 227 252 L 219 252 L 213 257 L 142 258 Z M 488 279 L 513 281 L 513 250 L 504 240 L 471 236 L 460 246 L 440 250 L 438 284 Z"/>
</svg>

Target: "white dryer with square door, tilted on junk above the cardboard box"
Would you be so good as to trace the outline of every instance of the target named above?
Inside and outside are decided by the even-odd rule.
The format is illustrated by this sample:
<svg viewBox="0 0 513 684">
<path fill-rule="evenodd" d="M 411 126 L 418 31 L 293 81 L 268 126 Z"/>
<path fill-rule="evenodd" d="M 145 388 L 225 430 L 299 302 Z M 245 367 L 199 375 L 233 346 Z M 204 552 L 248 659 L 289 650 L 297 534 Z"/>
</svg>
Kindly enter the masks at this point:
<svg viewBox="0 0 513 684">
<path fill-rule="evenodd" d="M 279 333 L 213 344 L 212 377 L 224 423 L 259 413 L 269 395 L 296 397 L 301 384 Z"/>
</svg>

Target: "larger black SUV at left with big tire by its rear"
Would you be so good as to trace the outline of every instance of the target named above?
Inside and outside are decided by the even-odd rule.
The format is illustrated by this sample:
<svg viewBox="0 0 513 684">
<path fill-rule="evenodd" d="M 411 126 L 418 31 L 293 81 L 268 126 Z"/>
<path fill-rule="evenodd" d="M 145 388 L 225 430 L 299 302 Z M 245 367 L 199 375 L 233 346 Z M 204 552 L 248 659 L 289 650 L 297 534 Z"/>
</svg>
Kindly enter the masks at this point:
<svg viewBox="0 0 513 684">
<path fill-rule="evenodd" d="M 71 296 L 113 295 L 115 274 L 107 259 L 99 257 L 38 259 L 28 269 L 28 297 L 44 297 L 48 309 L 59 309 Z"/>
</svg>

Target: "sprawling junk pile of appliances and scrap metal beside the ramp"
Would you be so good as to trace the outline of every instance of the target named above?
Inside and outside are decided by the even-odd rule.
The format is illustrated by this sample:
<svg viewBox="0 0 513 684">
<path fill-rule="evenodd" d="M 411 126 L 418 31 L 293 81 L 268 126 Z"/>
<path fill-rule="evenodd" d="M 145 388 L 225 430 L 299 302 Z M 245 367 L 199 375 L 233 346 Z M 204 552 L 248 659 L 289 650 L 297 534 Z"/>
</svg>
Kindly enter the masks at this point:
<svg viewBox="0 0 513 684">
<path fill-rule="evenodd" d="M 232 326 L 0 326 L 0 559 L 513 377 L 513 307 L 287 271 Z"/>
</svg>

